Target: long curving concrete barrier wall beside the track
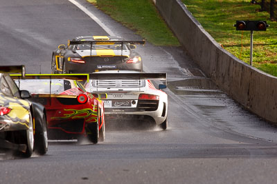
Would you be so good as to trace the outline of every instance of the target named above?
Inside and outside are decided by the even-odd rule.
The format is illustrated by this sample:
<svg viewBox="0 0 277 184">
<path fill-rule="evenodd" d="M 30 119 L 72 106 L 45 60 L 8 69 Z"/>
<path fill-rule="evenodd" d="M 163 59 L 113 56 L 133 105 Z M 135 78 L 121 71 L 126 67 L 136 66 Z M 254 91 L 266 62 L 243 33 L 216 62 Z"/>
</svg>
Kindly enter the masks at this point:
<svg viewBox="0 0 277 184">
<path fill-rule="evenodd" d="M 154 0 L 181 45 L 203 72 L 235 101 L 277 123 L 277 78 L 240 61 L 202 28 L 180 0 Z"/>
</svg>

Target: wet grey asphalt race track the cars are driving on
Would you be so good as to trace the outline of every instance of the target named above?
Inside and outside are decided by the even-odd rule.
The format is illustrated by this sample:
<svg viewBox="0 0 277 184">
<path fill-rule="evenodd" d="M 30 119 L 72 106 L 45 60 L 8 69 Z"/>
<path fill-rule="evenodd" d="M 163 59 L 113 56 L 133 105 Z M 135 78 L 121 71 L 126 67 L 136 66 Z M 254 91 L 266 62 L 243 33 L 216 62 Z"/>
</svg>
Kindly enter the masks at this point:
<svg viewBox="0 0 277 184">
<path fill-rule="evenodd" d="M 79 2 L 114 34 L 141 39 Z M 28 73 L 50 73 L 51 52 L 67 39 L 107 34 L 67 0 L 1 0 L 0 17 L 0 63 Z M 30 159 L 0 154 L 0 183 L 276 183 L 276 127 L 229 99 L 181 48 L 138 50 L 145 72 L 168 73 L 168 130 L 118 128 L 98 145 L 51 142 Z"/>
</svg>

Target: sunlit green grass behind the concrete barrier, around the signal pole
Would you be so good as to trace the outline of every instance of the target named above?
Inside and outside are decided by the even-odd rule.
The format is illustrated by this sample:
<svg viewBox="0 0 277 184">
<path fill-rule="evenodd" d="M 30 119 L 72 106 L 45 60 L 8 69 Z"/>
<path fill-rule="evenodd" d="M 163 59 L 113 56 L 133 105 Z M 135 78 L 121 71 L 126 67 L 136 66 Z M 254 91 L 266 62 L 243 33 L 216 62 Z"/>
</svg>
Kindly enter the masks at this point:
<svg viewBox="0 0 277 184">
<path fill-rule="evenodd" d="M 265 20 L 267 31 L 253 32 L 253 66 L 277 76 L 277 23 L 251 0 L 182 0 L 211 36 L 235 57 L 249 63 L 250 32 L 236 31 L 236 20 Z"/>
</svg>

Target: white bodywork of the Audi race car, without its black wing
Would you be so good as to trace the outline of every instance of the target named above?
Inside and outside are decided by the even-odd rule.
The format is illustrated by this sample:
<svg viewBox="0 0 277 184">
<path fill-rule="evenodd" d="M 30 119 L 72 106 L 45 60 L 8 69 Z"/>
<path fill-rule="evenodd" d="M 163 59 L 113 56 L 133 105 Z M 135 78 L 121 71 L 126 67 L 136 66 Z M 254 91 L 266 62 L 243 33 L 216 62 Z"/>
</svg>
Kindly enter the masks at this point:
<svg viewBox="0 0 277 184">
<path fill-rule="evenodd" d="M 103 71 L 118 72 L 118 71 Z M 102 73 L 103 73 L 102 72 Z M 130 71 L 119 71 L 128 73 Z M 97 82 L 97 84 L 96 84 Z M 85 86 L 88 92 L 107 93 L 105 114 L 144 115 L 154 119 L 157 125 L 166 121 L 168 115 L 168 95 L 157 90 L 149 80 L 139 79 L 98 79 L 89 80 Z M 139 100 L 140 94 L 153 94 L 159 96 L 157 100 Z M 151 104 L 153 103 L 153 104 Z M 157 104 L 156 104 L 157 103 Z M 157 107 L 153 108 L 153 107 Z"/>
</svg>

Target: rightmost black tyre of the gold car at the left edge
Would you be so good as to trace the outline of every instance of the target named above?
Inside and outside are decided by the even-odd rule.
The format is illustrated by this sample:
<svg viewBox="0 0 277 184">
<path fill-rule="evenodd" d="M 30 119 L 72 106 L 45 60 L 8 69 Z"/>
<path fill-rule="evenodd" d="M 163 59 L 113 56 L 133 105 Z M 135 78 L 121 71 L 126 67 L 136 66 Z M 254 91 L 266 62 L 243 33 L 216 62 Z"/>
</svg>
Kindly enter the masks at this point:
<svg viewBox="0 0 277 184">
<path fill-rule="evenodd" d="M 43 120 L 41 122 L 41 126 L 38 123 L 35 123 L 35 151 L 37 154 L 43 155 L 46 154 L 48 150 L 48 138 L 47 138 L 47 127 L 46 127 L 46 119 L 43 116 Z M 42 130 L 39 130 L 41 128 Z"/>
</svg>

